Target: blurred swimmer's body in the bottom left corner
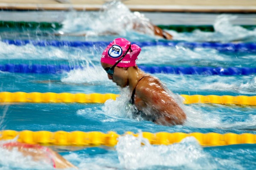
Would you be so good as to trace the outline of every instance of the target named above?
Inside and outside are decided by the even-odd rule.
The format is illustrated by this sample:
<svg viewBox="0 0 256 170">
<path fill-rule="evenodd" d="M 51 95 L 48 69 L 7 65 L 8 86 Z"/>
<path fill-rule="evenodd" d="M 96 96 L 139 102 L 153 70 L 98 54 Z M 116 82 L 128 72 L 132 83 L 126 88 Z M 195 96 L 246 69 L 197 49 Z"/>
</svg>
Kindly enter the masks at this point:
<svg viewBox="0 0 256 170">
<path fill-rule="evenodd" d="M 17 151 L 23 153 L 23 156 L 31 156 L 34 161 L 41 161 L 52 164 L 52 167 L 57 169 L 64 168 L 76 168 L 69 161 L 64 159 L 60 154 L 53 151 L 48 147 L 44 147 L 38 144 L 24 144 L 20 142 L 9 142 L 2 144 L 3 148 L 8 150 L 16 149 Z"/>
</svg>

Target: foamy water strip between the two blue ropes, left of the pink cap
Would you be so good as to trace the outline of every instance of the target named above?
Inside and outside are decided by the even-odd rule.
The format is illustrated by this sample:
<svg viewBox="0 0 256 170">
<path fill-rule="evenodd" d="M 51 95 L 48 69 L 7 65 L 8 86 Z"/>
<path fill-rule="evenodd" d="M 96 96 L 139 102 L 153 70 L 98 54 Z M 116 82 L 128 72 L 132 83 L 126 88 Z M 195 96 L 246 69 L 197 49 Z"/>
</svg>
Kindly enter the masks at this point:
<svg viewBox="0 0 256 170">
<path fill-rule="evenodd" d="M 90 60 L 89 62 L 99 62 L 101 52 L 101 48 L 93 46 L 88 48 L 73 48 L 68 46 L 58 48 L 53 46 L 40 47 L 32 44 L 17 46 L 0 42 L 0 59 L 10 60 L 66 60 L 72 65 L 87 60 Z"/>
</svg>

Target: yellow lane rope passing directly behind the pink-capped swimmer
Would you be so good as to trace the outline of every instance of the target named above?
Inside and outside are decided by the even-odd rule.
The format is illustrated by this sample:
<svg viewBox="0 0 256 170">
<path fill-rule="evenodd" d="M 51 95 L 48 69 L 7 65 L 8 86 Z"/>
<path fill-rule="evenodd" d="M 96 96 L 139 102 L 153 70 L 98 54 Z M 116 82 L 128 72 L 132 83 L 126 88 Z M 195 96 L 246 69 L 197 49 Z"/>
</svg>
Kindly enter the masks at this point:
<svg viewBox="0 0 256 170">
<path fill-rule="evenodd" d="M 256 96 L 217 96 L 217 95 L 185 95 L 184 104 L 215 103 L 233 105 L 256 105 Z M 105 103 L 108 99 L 116 100 L 119 94 L 71 94 L 71 93 L 25 93 L 25 92 L 0 92 L 0 102 L 79 102 L 79 103 Z"/>
</svg>

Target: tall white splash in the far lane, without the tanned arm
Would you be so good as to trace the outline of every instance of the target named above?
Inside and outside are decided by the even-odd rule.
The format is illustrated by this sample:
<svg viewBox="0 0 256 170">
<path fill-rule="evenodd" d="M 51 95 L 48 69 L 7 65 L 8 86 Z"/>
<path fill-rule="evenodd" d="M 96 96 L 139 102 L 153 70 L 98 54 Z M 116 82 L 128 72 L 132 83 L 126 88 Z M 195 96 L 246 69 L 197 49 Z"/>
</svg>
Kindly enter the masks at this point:
<svg viewBox="0 0 256 170">
<path fill-rule="evenodd" d="M 72 11 L 67 14 L 67 18 L 62 24 L 62 32 L 86 33 L 86 36 L 102 34 L 125 35 L 127 31 L 133 30 L 149 35 L 154 34 L 154 32 L 148 28 L 150 24 L 149 20 L 145 18 L 143 14 L 131 12 L 129 8 L 120 1 L 105 3 L 102 10 L 98 13 L 81 14 Z"/>
</svg>

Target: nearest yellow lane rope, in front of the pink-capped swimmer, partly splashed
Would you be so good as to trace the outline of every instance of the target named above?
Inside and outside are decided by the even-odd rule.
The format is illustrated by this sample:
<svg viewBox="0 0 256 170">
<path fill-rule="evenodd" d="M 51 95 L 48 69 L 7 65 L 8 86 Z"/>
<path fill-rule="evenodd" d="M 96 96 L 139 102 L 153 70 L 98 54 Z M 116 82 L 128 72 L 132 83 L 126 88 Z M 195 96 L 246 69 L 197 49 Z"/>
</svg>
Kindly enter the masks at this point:
<svg viewBox="0 0 256 170">
<path fill-rule="evenodd" d="M 99 131 L 82 132 L 82 131 L 15 131 L 2 130 L 0 131 L 0 140 L 12 140 L 17 136 L 17 141 L 27 144 L 41 145 L 64 145 L 64 146 L 99 146 L 105 145 L 113 147 L 118 142 L 119 136 L 133 135 L 138 137 L 140 134 L 133 132 L 125 132 L 122 135 L 110 131 L 102 133 Z M 251 133 L 168 133 L 168 132 L 142 132 L 142 136 L 148 139 L 150 144 L 169 145 L 178 143 L 182 139 L 193 136 L 202 146 L 222 146 L 231 144 L 256 144 L 256 135 Z"/>
</svg>

